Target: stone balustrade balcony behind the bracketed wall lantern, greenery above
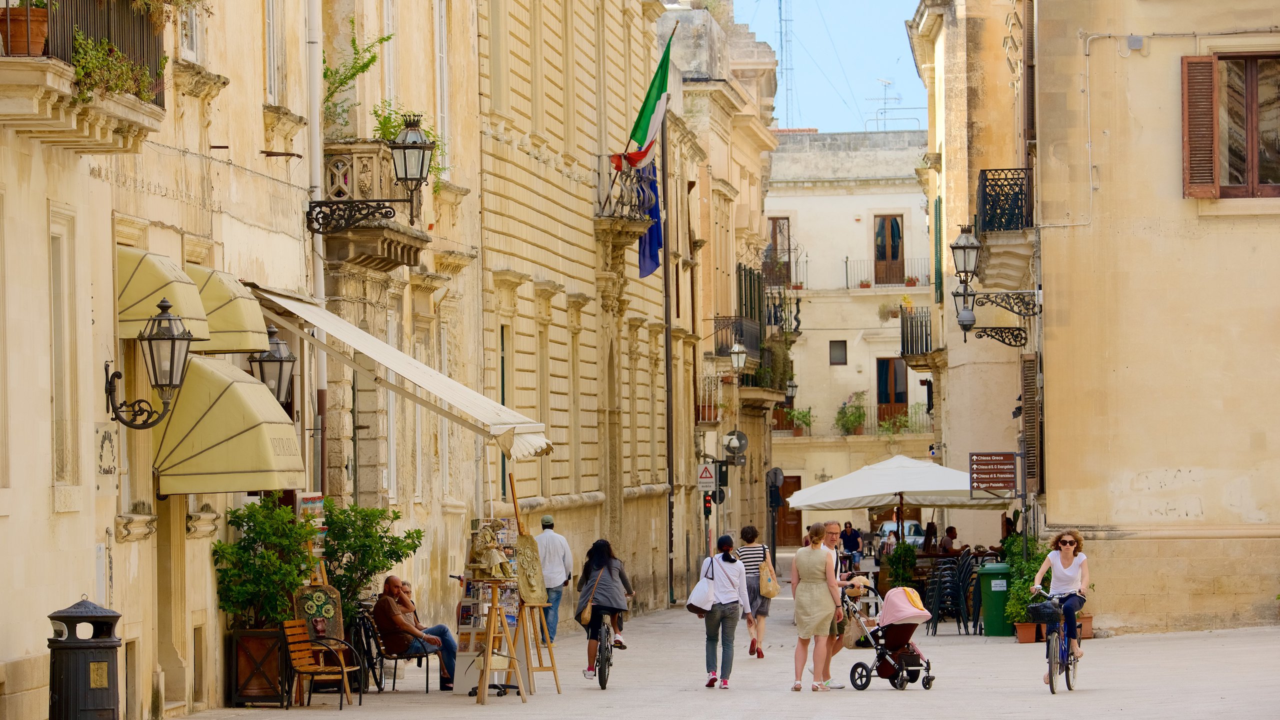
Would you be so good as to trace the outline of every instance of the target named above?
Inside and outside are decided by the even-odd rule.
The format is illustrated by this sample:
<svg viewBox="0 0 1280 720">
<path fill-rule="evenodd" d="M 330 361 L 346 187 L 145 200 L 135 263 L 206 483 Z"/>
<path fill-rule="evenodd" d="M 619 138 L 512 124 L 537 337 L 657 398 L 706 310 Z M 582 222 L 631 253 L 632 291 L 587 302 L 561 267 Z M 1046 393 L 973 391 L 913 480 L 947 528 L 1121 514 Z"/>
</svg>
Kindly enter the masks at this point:
<svg viewBox="0 0 1280 720">
<path fill-rule="evenodd" d="M 326 200 L 380 200 L 406 197 L 396 184 L 392 151 L 380 140 L 342 140 L 325 143 L 324 195 Z M 426 191 L 419 193 L 419 202 Z M 416 268 L 430 242 L 426 232 L 408 225 L 408 204 L 392 204 L 396 217 L 370 219 L 324 236 L 325 259 L 372 270 Z"/>
</svg>

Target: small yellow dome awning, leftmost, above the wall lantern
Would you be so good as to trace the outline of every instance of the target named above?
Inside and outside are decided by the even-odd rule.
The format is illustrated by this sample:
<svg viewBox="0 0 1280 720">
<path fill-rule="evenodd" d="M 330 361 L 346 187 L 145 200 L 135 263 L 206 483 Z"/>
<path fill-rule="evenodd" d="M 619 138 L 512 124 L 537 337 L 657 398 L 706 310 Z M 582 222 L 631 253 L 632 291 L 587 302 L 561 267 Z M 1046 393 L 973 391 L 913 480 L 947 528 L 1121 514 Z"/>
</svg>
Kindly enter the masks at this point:
<svg viewBox="0 0 1280 720">
<path fill-rule="evenodd" d="M 196 340 L 209 340 L 209 323 L 205 320 L 205 306 L 200 302 L 200 290 L 173 258 L 118 245 L 115 286 L 119 292 L 115 307 L 120 338 L 137 337 L 147 320 L 160 311 L 156 309 L 160 300 L 168 299 L 173 304 L 170 313 L 182 318 L 191 334 Z M 192 350 L 204 347 L 196 345 Z"/>
</svg>

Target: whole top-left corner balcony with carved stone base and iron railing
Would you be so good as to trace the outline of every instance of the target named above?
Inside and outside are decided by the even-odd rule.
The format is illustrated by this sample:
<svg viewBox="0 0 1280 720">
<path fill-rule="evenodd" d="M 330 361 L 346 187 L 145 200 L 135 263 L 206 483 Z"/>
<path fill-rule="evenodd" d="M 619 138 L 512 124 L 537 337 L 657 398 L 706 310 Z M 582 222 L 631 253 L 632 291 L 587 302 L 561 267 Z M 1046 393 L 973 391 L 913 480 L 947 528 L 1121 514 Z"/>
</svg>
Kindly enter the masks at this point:
<svg viewBox="0 0 1280 720">
<path fill-rule="evenodd" d="M 164 88 L 159 81 L 145 87 L 140 94 L 154 96 L 143 101 L 77 85 L 76 33 L 95 46 L 110 42 L 114 56 L 133 63 L 136 73 L 159 78 L 161 28 L 146 13 L 133 10 L 129 0 L 49 5 L 28 8 L 0 0 L 0 127 L 79 154 L 138 152 L 164 120 Z"/>
</svg>

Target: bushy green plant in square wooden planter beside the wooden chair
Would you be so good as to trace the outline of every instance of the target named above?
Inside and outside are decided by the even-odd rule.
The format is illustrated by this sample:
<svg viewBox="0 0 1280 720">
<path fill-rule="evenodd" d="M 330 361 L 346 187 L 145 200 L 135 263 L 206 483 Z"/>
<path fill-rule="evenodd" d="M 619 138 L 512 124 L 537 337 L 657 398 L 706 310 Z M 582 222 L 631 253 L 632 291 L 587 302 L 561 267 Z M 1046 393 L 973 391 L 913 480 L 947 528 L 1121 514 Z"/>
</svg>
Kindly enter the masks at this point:
<svg viewBox="0 0 1280 720">
<path fill-rule="evenodd" d="M 239 537 L 214 543 L 218 607 L 230 623 L 227 679 L 230 705 L 284 705 L 280 626 L 310 574 L 315 528 L 280 505 L 279 493 L 227 511 Z"/>
</svg>

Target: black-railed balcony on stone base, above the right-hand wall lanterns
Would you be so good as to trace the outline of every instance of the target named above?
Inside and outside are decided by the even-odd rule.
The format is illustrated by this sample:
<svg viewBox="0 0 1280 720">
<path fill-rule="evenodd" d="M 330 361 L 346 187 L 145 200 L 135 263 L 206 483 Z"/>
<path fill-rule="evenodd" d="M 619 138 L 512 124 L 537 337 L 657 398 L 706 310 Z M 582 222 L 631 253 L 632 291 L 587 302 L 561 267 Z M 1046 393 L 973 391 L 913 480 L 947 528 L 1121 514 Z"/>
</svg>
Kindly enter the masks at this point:
<svg viewBox="0 0 1280 720">
<path fill-rule="evenodd" d="M 978 282 L 1021 290 L 1034 241 L 1032 174 L 1025 168 L 978 173 Z"/>
</svg>

